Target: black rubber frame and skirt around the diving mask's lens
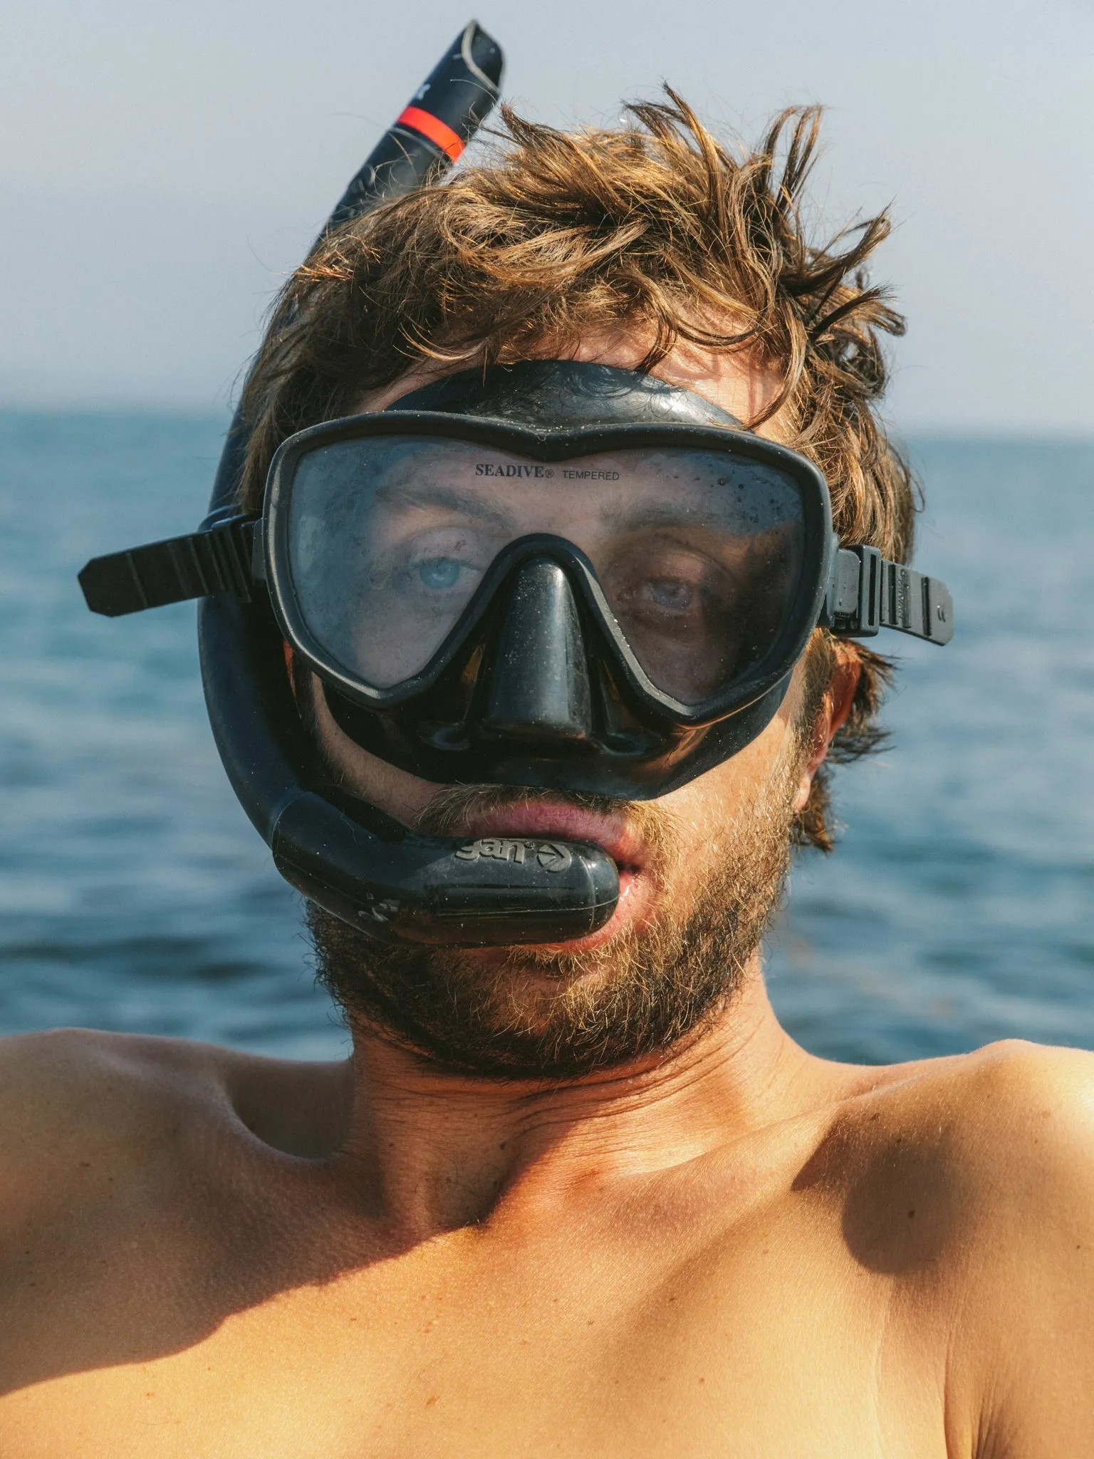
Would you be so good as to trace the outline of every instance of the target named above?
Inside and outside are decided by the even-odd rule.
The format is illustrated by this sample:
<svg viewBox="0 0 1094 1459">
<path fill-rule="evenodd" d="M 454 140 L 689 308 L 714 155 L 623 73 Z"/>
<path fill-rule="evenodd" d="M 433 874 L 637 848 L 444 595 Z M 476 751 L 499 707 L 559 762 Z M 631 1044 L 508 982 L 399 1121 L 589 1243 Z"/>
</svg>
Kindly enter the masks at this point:
<svg viewBox="0 0 1094 1459">
<path fill-rule="evenodd" d="M 492 374 L 480 376 L 483 407 L 490 401 Z M 566 384 L 586 397 L 607 387 L 607 400 L 623 414 L 632 391 L 643 404 L 649 394 L 637 385 L 643 378 L 630 371 L 569 360 L 508 368 L 502 387 L 513 376 L 546 378 L 563 401 Z M 688 394 L 662 382 L 656 387 L 672 404 Z M 691 398 L 699 406 L 700 397 Z M 368 686 L 331 658 L 299 611 L 289 568 L 287 499 L 309 452 L 376 436 L 471 442 L 535 463 L 671 446 L 775 467 L 796 487 L 804 525 L 802 569 L 782 627 L 744 676 L 706 700 L 681 703 L 643 671 L 585 554 L 565 538 L 535 534 L 499 553 L 419 673 L 389 689 Z M 334 719 L 362 747 L 442 783 L 531 785 L 648 800 L 737 753 L 777 711 L 826 605 L 836 552 L 829 490 L 817 467 L 740 427 L 624 420 L 537 429 L 487 416 L 398 409 L 314 426 L 282 445 L 270 468 L 254 566 L 265 573 L 286 642 L 322 680 Z"/>
</svg>

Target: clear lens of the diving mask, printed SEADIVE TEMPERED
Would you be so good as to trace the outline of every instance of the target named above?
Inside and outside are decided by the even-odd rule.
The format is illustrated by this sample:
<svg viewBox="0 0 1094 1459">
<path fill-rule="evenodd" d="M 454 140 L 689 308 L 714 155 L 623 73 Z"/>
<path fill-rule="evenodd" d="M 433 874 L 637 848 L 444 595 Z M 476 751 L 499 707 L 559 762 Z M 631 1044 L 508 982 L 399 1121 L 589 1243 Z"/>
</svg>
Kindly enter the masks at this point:
<svg viewBox="0 0 1094 1459">
<path fill-rule="evenodd" d="M 592 562 L 653 684 L 696 705 L 772 646 L 802 570 L 804 514 L 773 465 L 678 446 L 540 463 L 465 441 L 318 446 L 287 509 L 303 622 L 350 676 L 426 667 L 494 557 L 551 533 Z"/>
</svg>

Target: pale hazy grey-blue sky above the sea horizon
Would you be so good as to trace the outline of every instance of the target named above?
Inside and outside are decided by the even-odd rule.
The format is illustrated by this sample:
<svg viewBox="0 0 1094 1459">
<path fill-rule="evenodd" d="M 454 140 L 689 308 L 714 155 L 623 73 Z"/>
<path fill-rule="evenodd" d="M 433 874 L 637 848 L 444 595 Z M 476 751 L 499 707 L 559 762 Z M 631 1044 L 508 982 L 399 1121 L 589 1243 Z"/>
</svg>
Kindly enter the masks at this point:
<svg viewBox="0 0 1094 1459">
<path fill-rule="evenodd" d="M 470 3 L 470 0 L 468 0 Z M 273 290 L 470 12 L 6 0 L 0 404 L 223 406 Z M 903 429 L 1094 432 L 1094 0 L 487 0 L 505 93 L 725 131 L 821 101 L 814 197 L 893 203 Z"/>
</svg>

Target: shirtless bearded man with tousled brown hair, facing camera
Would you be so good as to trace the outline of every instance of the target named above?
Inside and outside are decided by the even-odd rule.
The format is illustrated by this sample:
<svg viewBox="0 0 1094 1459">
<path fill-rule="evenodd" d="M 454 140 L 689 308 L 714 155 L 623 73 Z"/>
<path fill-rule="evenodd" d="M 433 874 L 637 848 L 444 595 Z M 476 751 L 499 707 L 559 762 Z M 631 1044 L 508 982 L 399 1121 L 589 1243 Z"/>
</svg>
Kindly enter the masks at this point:
<svg viewBox="0 0 1094 1459">
<path fill-rule="evenodd" d="M 317 903 L 319 966 L 353 1034 L 346 1065 L 90 1033 L 10 1040 L 0 1452 L 1091 1453 L 1088 1056 L 996 1046 L 894 1068 L 831 1065 L 794 1045 L 766 998 L 760 938 L 789 848 L 829 845 L 826 756 L 869 746 L 884 661 L 826 629 L 807 635 L 764 715 L 722 743 L 728 753 L 680 770 L 731 734 L 686 727 L 687 706 L 738 674 L 715 649 L 728 655 L 735 633 L 737 662 L 753 652 L 750 633 L 776 633 L 763 594 L 798 552 L 777 470 L 798 481 L 810 461 L 823 470 L 845 550 L 907 556 L 909 476 L 872 414 L 884 385 L 877 330 L 896 331 L 899 318 L 861 277 L 884 223 L 842 251 L 805 244 L 808 117 L 777 175 L 780 127 L 735 162 L 675 104 L 639 108 L 620 133 L 509 125 L 500 160 L 352 225 L 289 285 L 249 387 L 244 505 L 258 505 L 280 442 L 324 420 L 372 423 L 292 451 L 306 457 L 318 441 L 353 457 L 362 441 L 397 442 L 382 470 L 375 452 L 372 476 L 354 468 L 352 500 L 318 457 L 308 480 L 292 451 L 271 477 L 284 514 L 300 514 L 286 550 L 306 622 L 279 607 L 293 712 L 346 814 L 368 802 L 423 833 L 462 836 L 468 877 L 487 862 L 509 874 L 527 854 L 543 855 L 546 881 L 569 843 L 585 845 L 617 868 L 618 900 L 613 891 L 610 918 L 581 935 L 535 941 L 521 924 L 494 945 L 433 932 L 385 945 L 397 899 L 362 924 L 368 935 Z M 700 481 L 697 457 L 684 468 L 671 455 L 680 427 L 630 455 L 618 441 L 637 436 L 624 432 L 600 454 L 588 438 L 585 455 L 556 452 L 547 487 L 515 448 L 461 457 L 478 427 L 457 420 L 445 433 L 433 419 L 423 446 L 423 417 L 400 420 L 400 401 L 454 409 L 451 391 L 464 414 L 478 401 L 494 419 L 513 381 L 531 381 L 532 425 L 551 391 L 570 391 L 579 411 L 585 387 L 604 382 L 618 409 L 667 403 L 691 413 L 690 430 L 725 420 L 715 429 L 731 464 Z M 513 429 L 531 439 L 519 420 Z M 721 436 L 703 430 L 703 460 L 716 458 Z M 439 460 L 438 439 L 458 449 L 427 474 L 420 463 Z M 740 474 L 745 458 L 751 476 Z M 763 490 L 760 467 L 775 473 Z M 525 495 L 505 484 L 519 473 L 535 483 Z M 309 516 L 309 490 L 349 515 Z M 352 514 L 368 492 L 363 522 Z M 723 515 L 702 515 L 700 496 Z M 656 570 L 637 570 L 651 531 Z M 477 556 L 476 534 L 490 543 Z M 521 546 L 532 538 L 538 556 Z M 353 589 L 328 570 L 346 543 Z M 503 559 L 512 570 L 492 587 Z M 582 562 L 595 591 L 573 587 Z M 445 738 L 438 700 L 414 721 L 419 747 L 408 731 L 400 740 L 398 694 L 413 696 L 398 686 L 426 674 L 414 655 L 441 662 L 455 645 L 448 667 L 474 687 L 494 652 L 493 693 L 521 655 L 505 658 L 509 630 L 492 614 L 502 624 L 519 614 L 518 587 L 532 592 L 543 563 L 553 601 L 581 600 L 579 626 L 563 642 L 563 619 L 550 620 L 557 633 L 537 641 L 547 657 L 531 655 L 529 693 L 559 642 L 578 655 L 601 643 L 588 693 L 626 734 L 613 738 L 601 721 L 578 732 L 569 700 L 532 734 L 512 700 L 508 719 L 490 700 L 483 724 L 493 715 L 505 754 L 519 759 L 524 734 L 531 776 L 554 766 L 556 781 L 583 788 L 522 786 L 508 770 L 443 783 L 407 769 L 413 754 L 465 753 Z M 276 568 L 268 557 L 267 573 Z M 445 594 L 467 575 L 445 617 Z M 413 594 L 397 595 L 397 579 Z M 732 598 L 741 582 L 751 598 Z M 722 619 L 719 584 L 732 608 Z M 271 591 L 287 592 L 276 572 Z M 371 689 L 354 690 L 349 670 L 335 683 L 322 664 L 331 603 L 330 635 L 349 635 L 341 662 L 353 659 Z M 368 614 L 349 613 L 360 603 Z M 476 603 L 490 610 L 486 648 L 468 638 Z M 624 654 L 613 633 L 639 664 L 633 683 L 611 657 Z M 677 706 L 677 738 L 655 769 L 646 721 L 624 715 L 639 689 Z M 388 706 L 388 719 L 369 703 Z M 624 797 L 618 785 L 639 775 L 626 766 L 611 772 L 617 794 L 589 788 L 594 748 L 601 760 L 629 753 L 671 788 L 651 795 L 648 779 Z"/>
</svg>

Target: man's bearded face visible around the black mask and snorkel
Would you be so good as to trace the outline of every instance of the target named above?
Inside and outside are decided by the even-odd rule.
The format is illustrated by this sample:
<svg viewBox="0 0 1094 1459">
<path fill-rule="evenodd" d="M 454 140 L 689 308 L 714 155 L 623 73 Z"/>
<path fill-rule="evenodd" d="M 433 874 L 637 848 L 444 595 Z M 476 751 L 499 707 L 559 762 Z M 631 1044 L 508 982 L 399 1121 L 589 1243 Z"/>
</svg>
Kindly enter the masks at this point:
<svg viewBox="0 0 1094 1459">
<path fill-rule="evenodd" d="M 632 365 L 642 350 L 589 349 Z M 658 374 L 738 416 L 763 379 L 734 357 L 670 357 Z M 407 379 L 363 409 L 416 388 Z M 757 398 L 759 395 L 759 398 Z M 384 948 L 312 907 L 319 970 L 349 1015 L 449 1068 L 576 1077 L 655 1053 L 725 1007 L 754 963 L 786 875 L 815 751 L 802 665 L 745 750 L 655 801 L 500 786 L 438 786 L 376 759 L 298 684 L 331 770 L 423 830 L 595 842 L 620 868 L 611 921 L 579 941 L 513 948 Z"/>
</svg>

